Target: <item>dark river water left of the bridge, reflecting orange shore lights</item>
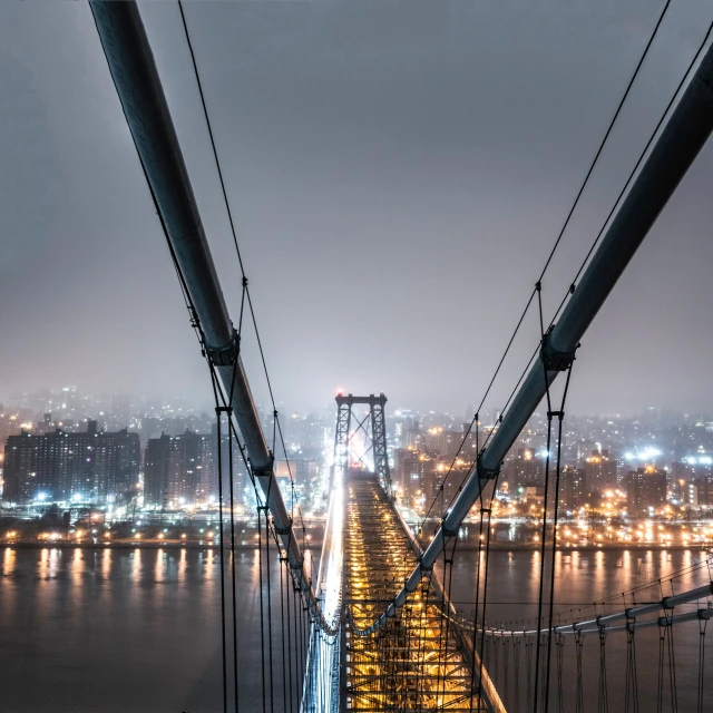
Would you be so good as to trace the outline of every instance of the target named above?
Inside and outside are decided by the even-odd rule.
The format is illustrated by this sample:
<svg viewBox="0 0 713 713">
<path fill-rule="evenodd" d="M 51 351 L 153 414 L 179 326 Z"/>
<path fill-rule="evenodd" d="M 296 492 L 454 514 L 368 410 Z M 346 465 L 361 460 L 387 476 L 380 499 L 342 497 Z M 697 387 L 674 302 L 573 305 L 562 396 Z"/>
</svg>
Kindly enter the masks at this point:
<svg viewBox="0 0 713 713">
<path fill-rule="evenodd" d="M 193 549 L 0 549 L 0 711 L 222 711 L 218 561 Z M 257 561 L 236 556 L 245 711 L 262 710 Z M 276 564 L 272 574 L 279 584 Z"/>
</svg>

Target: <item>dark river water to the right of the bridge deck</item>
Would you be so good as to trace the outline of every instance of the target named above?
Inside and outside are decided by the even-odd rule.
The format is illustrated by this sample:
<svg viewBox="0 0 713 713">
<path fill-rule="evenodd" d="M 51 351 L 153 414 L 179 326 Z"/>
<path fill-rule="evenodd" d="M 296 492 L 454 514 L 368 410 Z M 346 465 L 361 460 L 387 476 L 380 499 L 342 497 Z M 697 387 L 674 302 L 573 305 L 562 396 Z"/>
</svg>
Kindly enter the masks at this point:
<svg viewBox="0 0 713 713">
<path fill-rule="evenodd" d="M 548 563 L 549 557 L 546 557 Z M 705 551 L 573 551 L 558 553 L 556 560 L 555 602 L 556 624 L 569 623 L 575 618 L 592 618 L 596 614 L 616 612 L 634 602 L 643 604 L 660 600 L 663 596 L 678 594 L 711 582 L 711 570 L 697 563 L 705 561 Z M 491 625 L 504 628 L 535 629 L 537 627 L 537 602 L 539 587 L 539 554 L 526 551 L 497 551 L 491 554 L 488 574 L 487 621 Z M 475 603 L 477 553 L 463 553 L 456 556 L 452 570 L 451 595 L 460 612 L 470 612 Z M 666 578 L 682 572 L 673 582 Z M 629 589 L 663 579 L 641 589 L 635 595 L 623 593 Z M 549 582 L 549 569 L 546 569 L 546 582 Z M 614 597 L 608 606 L 583 606 L 605 597 Z M 706 600 L 684 605 L 677 613 L 691 608 L 705 607 Z M 546 621 L 547 622 L 547 621 Z M 545 623 L 547 626 L 547 623 Z M 699 673 L 699 623 L 685 623 L 673 629 L 673 661 L 675 664 L 675 703 L 680 713 L 696 711 L 697 673 Z M 705 671 L 707 672 L 706 701 L 704 711 L 713 711 L 713 626 L 705 642 Z M 674 710 L 672 705 L 668 678 L 667 641 L 664 660 L 663 711 Z M 636 672 L 638 682 L 638 710 L 644 712 L 657 710 L 658 687 L 658 652 L 660 633 L 657 627 L 642 628 L 635 633 Z M 573 637 L 564 639 L 561 651 L 561 710 L 576 710 L 576 649 Z M 486 666 L 498 682 L 502 692 L 502 702 L 508 711 L 531 710 L 527 706 L 526 695 L 526 655 L 524 647 L 519 655 L 519 700 L 515 697 L 515 665 L 511 646 L 508 655 L 508 682 L 505 681 L 504 644 L 495 651 L 490 645 L 485 652 Z M 583 687 L 585 711 L 599 711 L 599 639 L 597 636 L 585 638 L 583 648 Z M 624 712 L 626 685 L 626 633 L 612 633 L 605 644 L 606 690 L 608 692 L 609 713 Z M 497 663 L 496 663 L 497 660 Z M 534 671 L 534 666 L 533 666 Z M 549 710 L 558 711 L 557 663 L 555 648 L 551 657 Z M 631 705 L 631 704 L 629 704 Z M 540 709 L 541 710 L 541 709 Z M 634 711 L 634 707 L 629 707 Z"/>
</svg>

